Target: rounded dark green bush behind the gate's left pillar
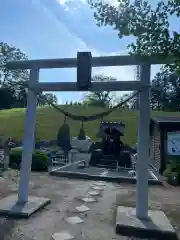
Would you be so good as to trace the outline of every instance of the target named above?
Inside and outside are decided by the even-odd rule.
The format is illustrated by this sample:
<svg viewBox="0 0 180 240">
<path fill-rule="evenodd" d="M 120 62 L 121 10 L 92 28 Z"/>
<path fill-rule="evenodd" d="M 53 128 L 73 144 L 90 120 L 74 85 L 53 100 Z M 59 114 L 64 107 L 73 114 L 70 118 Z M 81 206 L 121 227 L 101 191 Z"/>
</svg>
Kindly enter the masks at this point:
<svg viewBox="0 0 180 240">
<path fill-rule="evenodd" d="M 22 148 L 12 148 L 9 158 L 10 167 L 16 165 L 20 168 L 21 165 Z M 35 150 L 32 154 L 31 170 L 44 171 L 48 169 L 48 157 L 45 153 Z"/>
</svg>

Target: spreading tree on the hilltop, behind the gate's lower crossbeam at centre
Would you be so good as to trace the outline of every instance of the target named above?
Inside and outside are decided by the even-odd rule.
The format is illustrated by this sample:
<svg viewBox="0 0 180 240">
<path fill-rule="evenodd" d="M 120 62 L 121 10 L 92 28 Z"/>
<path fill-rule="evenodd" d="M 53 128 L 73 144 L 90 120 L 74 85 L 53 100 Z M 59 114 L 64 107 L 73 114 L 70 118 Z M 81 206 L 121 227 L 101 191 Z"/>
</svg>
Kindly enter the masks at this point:
<svg viewBox="0 0 180 240">
<path fill-rule="evenodd" d="M 104 75 L 95 75 L 92 77 L 92 82 L 109 82 L 109 81 L 116 81 L 116 79 Z M 83 104 L 98 107 L 109 107 L 112 104 L 114 96 L 115 94 L 113 94 L 110 91 L 91 92 L 85 95 Z"/>
</svg>

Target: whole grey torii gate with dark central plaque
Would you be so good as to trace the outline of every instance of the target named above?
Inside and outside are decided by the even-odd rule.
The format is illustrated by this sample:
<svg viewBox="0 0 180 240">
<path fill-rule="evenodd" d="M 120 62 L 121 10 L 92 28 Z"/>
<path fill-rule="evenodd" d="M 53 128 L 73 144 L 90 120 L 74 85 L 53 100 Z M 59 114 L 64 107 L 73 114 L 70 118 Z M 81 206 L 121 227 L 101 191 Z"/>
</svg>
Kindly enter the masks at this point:
<svg viewBox="0 0 180 240">
<path fill-rule="evenodd" d="M 159 56 L 137 58 L 133 56 L 91 57 L 91 53 L 82 52 L 77 58 L 42 59 L 8 62 L 7 69 L 30 69 L 29 86 L 39 91 L 136 91 L 140 92 L 138 121 L 138 162 L 136 187 L 136 215 L 148 219 L 148 158 L 149 158 L 149 86 L 151 64 L 166 63 Z M 91 67 L 140 65 L 140 81 L 94 82 L 91 83 Z M 77 82 L 39 82 L 42 68 L 75 68 Z M 147 86 L 147 87 L 146 87 Z M 28 201 L 28 186 L 31 172 L 34 131 L 36 122 L 37 94 L 28 91 L 25 120 L 24 145 L 20 170 L 18 202 Z"/>
</svg>

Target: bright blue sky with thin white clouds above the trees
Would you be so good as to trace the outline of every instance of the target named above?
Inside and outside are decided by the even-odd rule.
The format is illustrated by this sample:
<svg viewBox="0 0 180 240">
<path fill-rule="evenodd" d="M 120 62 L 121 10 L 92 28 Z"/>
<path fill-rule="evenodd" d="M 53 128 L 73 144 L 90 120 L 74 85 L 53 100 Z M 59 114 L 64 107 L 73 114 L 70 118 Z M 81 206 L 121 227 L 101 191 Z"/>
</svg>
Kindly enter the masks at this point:
<svg viewBox="0 0 180 240">
<path fill-rule="evenodd" d="M 110 27 L 97 27 L 85 0 L 6 0 L 1 3 L 0 16 L 0 41 L 20 48 L 29 59 L 76 57 L 81 50 L 90 50 L 93 56 L 126 54 L 127 43 L 132 41 L 119 40 Z M 176 19 L 171 24 L 173 29 L 177 28 Z M 152 76 L 158 69 L 153 67 Z M 133 67 L 93 69 L 93 74 L 96 73 L 118 80 L 135 78 Z M 76 71 L 42 70 L 40 81 L 76 81 Z M 59 102 L 83 97 L 82 93 L 56 94 Z"/>
</svg>

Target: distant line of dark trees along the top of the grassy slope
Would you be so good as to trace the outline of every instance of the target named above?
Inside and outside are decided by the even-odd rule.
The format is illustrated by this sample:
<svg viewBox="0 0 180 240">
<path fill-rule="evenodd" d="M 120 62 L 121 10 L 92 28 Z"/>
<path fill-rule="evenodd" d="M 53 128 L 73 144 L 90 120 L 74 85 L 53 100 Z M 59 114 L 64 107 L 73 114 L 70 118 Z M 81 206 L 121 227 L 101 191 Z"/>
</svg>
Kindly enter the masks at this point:
<svg viewBox="0 0 180 240">
<path fill-rule="evenodd" d="M 27 106 L 26 89 L 21 84 L 28 80 L 29 72 L 27 70 L 9 70 L 4 64 L 11 60 L 24 60 L 27 56 L 19 49 L 9 46 L 7 43 L 0 43 L 0 109 L 25 108 Z M 116 81 L 113 77 L 104 75 L 95 75 L 92 81 Z M 131 93 L 130 93 L 131 94 Z M 47 102 L 42 97 L 45 96 L 48 101 L 57 103 L 56 95 L 52 93 L 40 94 L 38 96 L 38 106 L 45 106 Z M 129 94 L 117 97 L 115 93 L 91 92 L 84 96 L 82 102 L 70 101 L 64 105 L 70 106 L 94 106 L 94 107 L 112 107 L 123 101 Z M 122 106 L 126 109 L 135 109 L 138 98 L 130 100 Z M 161 69 L 152 80 L 150 104 L 153 110 L 179 111 L 180 109 L 180 77 L 177 71 L 168 66 Z"/>
</svg>

